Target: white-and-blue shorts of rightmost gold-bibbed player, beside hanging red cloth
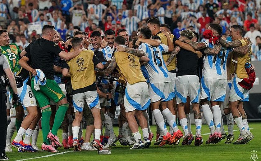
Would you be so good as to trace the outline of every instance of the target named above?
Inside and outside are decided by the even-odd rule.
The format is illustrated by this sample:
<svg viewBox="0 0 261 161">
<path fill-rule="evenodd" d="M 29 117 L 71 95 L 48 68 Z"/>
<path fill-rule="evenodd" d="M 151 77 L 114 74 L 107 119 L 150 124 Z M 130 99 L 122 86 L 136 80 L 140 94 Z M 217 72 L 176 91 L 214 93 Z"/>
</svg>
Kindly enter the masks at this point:
<svg viewBox="0 0 261 161">
<path fill-rule="evenodd" d="M 229 93 L 229 102 L 235 102 L 235 101 L 241 101 L 245 102 L 248 101 L 248 94 L 249 90 L 246 90 L 245 88 L 241 87 L 238 82 L 242 81 L 243 79 L 238 78 L 235 74 L 235 77 L 233 78 L 231 90 Z"/>
</svg>

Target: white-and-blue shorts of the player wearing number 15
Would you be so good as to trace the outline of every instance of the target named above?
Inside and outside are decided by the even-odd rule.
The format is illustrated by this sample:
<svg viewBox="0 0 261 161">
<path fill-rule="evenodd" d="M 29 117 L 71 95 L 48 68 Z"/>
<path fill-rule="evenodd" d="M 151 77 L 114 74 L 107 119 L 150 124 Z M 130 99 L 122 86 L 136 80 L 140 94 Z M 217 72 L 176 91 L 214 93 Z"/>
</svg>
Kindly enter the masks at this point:
<svg viewBox="0 0 261 161">
<path fill-rule="evenodd" d="M 165 102 L 173 99 L 172 82 L 148 83 L 151 102 Z"/>
</svg>

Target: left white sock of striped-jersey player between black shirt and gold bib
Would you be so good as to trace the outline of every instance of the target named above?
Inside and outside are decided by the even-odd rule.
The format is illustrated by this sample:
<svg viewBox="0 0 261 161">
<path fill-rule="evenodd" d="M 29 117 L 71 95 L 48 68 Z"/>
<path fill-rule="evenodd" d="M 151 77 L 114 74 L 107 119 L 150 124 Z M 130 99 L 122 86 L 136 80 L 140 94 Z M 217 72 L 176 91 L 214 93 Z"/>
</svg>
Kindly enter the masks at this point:
<svg viewBox="0 0 261 161">
<path fill-rule="evenodd" d="M 213 114 L 212 111 L 209 108 L 209 105 L 202 105 L 201 110 L 203 112 L 203 116 L 208 124 L 208 127 L 210 129 L 210 133 L 213 134 L 215 133 L 215 125 L 213 121 Z"/>
</svg>

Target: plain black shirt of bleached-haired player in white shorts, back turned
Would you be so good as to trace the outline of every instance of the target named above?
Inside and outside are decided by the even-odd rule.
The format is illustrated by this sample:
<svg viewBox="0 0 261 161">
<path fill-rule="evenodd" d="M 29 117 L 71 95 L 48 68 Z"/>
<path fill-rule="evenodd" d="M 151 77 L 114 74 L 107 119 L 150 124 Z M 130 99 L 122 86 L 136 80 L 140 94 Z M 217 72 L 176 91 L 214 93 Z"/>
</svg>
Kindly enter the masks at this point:
<svg viewBox="0 0 261 161">
<path fill-rule="evenodd" d="M 178 72 L 176 76 L 198 75 L 198 56 L 197 54 L 181 48 L 176 55 Z"/>
</svg>

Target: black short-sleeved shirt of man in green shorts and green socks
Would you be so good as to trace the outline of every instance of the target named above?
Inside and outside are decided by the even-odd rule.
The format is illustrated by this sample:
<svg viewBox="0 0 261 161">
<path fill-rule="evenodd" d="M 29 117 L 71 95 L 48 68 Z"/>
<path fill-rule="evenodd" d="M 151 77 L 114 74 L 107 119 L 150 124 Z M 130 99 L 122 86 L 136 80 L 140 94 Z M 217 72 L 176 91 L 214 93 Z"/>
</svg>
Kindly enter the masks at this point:
<svg viewBox="0 0 261 161">
<path fill-rule="evenodd" d="M 53 41 L 39 38 L 32 41 L 25 48 L 25 51 L 30 51 L 31 67 L 41 69 L 46 79 L 53 80 L 54 56 L 58 56 L 63 50 Z"/>
</svg>

